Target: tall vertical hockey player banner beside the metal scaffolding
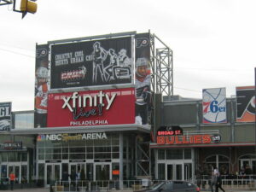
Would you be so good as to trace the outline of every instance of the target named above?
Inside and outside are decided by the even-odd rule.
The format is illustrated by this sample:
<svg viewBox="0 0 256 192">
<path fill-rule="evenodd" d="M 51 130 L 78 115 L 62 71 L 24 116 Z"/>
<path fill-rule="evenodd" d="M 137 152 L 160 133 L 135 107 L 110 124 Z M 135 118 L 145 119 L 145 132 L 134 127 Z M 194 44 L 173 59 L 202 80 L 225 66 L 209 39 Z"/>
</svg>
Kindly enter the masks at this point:
<svg viewBox="0 0 256 192">
<path fill-rule="evenodd" d="M 150 125 L 152 108 L 149 33 L 135 37 L 136 124 Z"/>
</svg>

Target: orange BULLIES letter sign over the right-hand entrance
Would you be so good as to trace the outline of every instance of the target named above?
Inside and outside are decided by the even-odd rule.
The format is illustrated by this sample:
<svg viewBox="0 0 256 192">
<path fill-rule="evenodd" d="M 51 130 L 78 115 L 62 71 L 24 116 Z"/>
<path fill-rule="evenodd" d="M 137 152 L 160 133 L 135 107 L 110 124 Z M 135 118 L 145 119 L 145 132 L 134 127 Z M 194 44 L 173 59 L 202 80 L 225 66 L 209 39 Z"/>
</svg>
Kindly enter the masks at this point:
<svg viewBox="0 0 256 192">
<path fill-rule="evenodd" d="M 220 136 L 190 135 L 190 136 L 158 136 L 157 144 L 208 144 L 220 142 Z"/>
</svg>

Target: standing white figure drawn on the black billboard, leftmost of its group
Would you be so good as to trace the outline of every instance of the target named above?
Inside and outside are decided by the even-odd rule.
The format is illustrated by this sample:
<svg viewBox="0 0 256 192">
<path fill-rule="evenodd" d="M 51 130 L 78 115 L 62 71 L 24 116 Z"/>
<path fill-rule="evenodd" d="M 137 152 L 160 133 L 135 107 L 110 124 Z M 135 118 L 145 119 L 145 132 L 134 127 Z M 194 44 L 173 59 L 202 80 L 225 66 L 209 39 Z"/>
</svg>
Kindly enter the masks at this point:
<svg viewBox="0 0 256 192">
<path fill-rule="evenodd" d="M 108 52 L 101 47 L 100 42 L 93 44 L 93 76 L 92 82 L 97 83 L 98 76 L 101 78 L 102 82 L 106 82 L 103 61 L 106 60 Z"/>
</svg>

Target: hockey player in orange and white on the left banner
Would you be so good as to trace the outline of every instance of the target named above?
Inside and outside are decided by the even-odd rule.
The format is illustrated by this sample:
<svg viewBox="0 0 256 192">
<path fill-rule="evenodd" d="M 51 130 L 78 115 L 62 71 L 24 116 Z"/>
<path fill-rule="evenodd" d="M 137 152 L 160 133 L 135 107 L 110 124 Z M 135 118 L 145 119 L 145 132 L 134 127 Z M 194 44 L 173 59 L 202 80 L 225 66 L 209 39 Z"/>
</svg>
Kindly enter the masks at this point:
<svg viewBox="0 0 256 192">
<path fill-rule="evenodd" d="M 46 67 L 38 67 L 35 89 L 35 127 L 46 127 L 49 90 L 48 69 Z"/>
</svg>

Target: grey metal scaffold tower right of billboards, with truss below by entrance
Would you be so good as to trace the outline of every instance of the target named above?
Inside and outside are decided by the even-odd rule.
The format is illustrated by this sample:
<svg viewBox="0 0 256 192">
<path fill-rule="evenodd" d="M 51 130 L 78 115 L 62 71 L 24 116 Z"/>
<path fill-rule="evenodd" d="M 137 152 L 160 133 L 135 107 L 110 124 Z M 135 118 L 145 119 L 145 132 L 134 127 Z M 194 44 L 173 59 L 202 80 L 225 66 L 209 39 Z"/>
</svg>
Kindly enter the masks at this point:
<svg viewBox="0 0 256 192">
<path fill-rule="evenodd" d="M 151 111 L 151 127 L 155 127 L 155 94 L 165 96 L 173 95 L 173 57 L 172 49 L 164 44 L 155 34 L 149 34 L 150 42 L 150 67 L 151 84 L 153 94 L 153 105 Z M 160 44 L 161 48 L 156 48 Z M 155 130 L 152 129 L 151 130 Z M 151 150 L 150 141 L 136 142 L 136 175 L 142 177 L 152 177 L 151 174 Z"/>
</svg>

